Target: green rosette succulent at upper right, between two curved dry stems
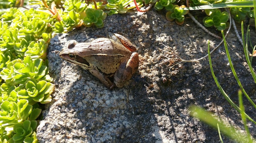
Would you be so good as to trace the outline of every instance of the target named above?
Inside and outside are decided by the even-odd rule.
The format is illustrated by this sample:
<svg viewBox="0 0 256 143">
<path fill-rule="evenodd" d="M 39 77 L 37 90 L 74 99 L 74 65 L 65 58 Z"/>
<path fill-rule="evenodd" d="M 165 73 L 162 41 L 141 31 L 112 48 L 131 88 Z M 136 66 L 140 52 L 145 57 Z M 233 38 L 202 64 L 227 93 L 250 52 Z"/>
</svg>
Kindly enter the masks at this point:
<svg viewBox="0 0 256 143">
<path fill-rule="evenodd" d="M 229 20 L 229 14 L 226 11 L 221 12 L 220 9 L 206 9 L 205 13 L 209 15 L 209 17 L 204 17 L 204 26 L 214 26 L 220 31 L 227 28 L 226 22 Z"/>
</svg>

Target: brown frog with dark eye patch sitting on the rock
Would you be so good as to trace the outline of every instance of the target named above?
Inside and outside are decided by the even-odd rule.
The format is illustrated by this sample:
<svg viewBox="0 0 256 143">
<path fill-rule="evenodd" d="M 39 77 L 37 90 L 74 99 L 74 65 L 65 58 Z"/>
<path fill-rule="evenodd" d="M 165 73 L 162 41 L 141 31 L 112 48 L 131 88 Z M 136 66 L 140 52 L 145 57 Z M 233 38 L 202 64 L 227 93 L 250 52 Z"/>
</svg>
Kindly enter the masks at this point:
<svg viewBox="0 0 256 143">
<path fill-rule="evenodd" d="M 81 66 L 98 78 L 106 87 L 124 87 L 139 67 L 137 47 L 126 37 L 108 33 L 108 37 L 91 42 L 72 42 L 59 56 Z"/>
</svg>

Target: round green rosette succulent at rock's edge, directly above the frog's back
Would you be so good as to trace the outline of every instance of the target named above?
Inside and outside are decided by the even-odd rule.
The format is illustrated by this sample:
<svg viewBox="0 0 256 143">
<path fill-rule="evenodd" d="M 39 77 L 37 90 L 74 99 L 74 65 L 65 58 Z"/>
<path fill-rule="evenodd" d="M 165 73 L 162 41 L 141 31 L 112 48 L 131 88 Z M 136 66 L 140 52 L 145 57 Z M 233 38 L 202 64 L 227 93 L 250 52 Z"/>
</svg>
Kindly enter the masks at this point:
<svg viewBox="0 0 256 143">
<path fill-rule="evenodd" d="M 107 14 L 100 9 L 86 9 L 86 17 L 83 18 L 83 24 L 87 27 L 94 24 L 97 28 L 102 28 L 104 26 L 103 20 L 106 19 Z"/>
</svg>

